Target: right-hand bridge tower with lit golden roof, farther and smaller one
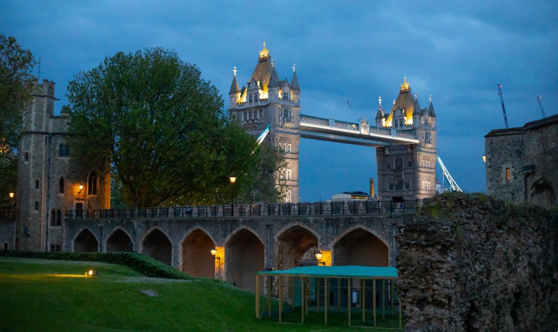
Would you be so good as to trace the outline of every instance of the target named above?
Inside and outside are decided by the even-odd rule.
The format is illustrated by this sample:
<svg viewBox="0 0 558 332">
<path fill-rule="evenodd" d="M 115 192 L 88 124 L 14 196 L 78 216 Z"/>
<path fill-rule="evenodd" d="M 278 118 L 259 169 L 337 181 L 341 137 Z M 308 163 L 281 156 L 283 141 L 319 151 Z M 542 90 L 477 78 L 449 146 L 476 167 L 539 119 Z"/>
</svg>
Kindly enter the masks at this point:
<svg viewBox="0 0 558 332">
<path fill-rule="evenodd" d="M 434 196 L 436 181 L 436 114 L 430 96 L 428 108 L 421 109 L 418 94 L 411 94 L 403 79 L 391 112 L 385 112 L 381 98 L 376 126 L 416 134 L 418 144 L 390 144 L 378 147 L 378 196 L 380 199 L 424 199 Z"/>
</svg>

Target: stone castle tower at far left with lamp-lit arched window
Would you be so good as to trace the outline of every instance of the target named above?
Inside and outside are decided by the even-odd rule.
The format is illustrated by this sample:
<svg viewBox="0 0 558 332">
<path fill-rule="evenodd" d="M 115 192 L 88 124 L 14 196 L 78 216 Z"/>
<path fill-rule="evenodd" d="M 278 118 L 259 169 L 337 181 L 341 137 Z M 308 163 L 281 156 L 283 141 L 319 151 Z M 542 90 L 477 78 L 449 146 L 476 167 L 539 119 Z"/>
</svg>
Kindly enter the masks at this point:
<svg viewBox="0 0 558 332">
<path fill-rule="evenodd" d="M 16 249 L 60 251 L 66 212 L 110 207 L 110 173 L 71 155 L 67 108 L 53 114 L 55 83 L 35 81 L 19 143 Z M 81 189 L 80 189 L 80 186 Z M 67 239 L 66 239 L 67 240 Z M 70 239 L 71 240 L 71 239 Z"/>
</svg>

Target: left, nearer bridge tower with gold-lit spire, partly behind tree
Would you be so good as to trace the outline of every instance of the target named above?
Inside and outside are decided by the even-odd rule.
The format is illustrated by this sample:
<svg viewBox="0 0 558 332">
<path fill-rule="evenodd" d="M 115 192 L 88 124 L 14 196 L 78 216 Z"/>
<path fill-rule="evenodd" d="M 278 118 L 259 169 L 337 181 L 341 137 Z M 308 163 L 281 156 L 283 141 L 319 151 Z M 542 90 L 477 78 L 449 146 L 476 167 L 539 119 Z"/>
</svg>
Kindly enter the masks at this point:
<svg viewBox="0 0 558 332">
<path fill-rule="evenodd" d="M 288 79 L 281 81 L 264 42 L 252 76 L 240 89 L 234 68 L 229 115 L 253 136 L 262 133 L 270 123 L 265 142 L 285 151 L 288 166 L 283 177 L 289 186 L 286 201 L 298 203 L 301 88 L 296 78 L 296 66 L 292 68 L 291 82 Z"/>
</svg>

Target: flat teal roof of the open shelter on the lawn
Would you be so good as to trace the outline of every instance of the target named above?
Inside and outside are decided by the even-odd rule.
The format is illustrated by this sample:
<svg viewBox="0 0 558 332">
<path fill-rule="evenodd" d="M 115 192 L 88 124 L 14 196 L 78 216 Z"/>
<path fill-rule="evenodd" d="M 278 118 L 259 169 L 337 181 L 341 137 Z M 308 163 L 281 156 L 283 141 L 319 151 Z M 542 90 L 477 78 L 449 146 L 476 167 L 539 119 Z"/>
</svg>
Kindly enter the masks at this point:
<svg viewBox="0 0 558 332">
<path fill-rule="evenodd" d="M 375 266 L 303 266 L 289 270 L 261 271 L 259 275 L 283 275 L 291 277 L 331 278 L 397 278 L 397 269 Z"/>
</svg>

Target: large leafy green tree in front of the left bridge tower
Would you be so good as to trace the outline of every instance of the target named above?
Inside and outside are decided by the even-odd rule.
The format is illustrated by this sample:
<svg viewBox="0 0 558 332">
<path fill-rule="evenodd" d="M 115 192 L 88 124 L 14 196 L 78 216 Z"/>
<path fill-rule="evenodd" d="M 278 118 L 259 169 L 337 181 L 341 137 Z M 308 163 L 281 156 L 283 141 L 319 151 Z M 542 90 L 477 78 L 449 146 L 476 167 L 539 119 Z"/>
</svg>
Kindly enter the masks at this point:
<svg viewBox="0 0 558 332">
<path fill-rule="evenodd" d="M 116 53 L 68 84 L 73 155 L 100 171 L 127 205 L 219 204 L 251 181 L 257 143 L 223 112 L 199 69 L 161 48 Z M 239 191 L 239 192 L 242 192 Z"/>
</svg>

